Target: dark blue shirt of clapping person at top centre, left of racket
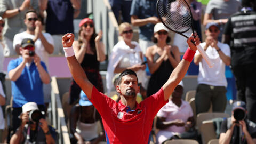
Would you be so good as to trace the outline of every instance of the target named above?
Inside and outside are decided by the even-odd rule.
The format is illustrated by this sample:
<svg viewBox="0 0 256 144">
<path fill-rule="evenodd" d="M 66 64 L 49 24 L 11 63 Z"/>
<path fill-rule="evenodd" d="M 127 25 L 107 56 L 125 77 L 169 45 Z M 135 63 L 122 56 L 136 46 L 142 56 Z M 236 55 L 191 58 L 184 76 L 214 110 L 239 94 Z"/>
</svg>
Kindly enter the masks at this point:
<svg viewBox="0 0 256 144">
<path fill-rule="evenodd" d="M 139 19 L 146 19 L 149 17 L 158 17 L 156 13 L 157 0 L 133 0 L 130 15 L 136 15 Z M 139 38 L 145 41 L 151 41 L 153 36 L 154 24 L 140 26 Z"/>
</svg>

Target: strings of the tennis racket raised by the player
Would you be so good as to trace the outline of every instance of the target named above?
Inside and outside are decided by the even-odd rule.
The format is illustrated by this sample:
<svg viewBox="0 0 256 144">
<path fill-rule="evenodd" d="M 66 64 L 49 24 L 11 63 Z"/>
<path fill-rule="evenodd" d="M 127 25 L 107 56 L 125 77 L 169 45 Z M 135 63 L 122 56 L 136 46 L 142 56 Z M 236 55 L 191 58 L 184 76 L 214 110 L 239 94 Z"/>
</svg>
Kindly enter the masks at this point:
<svg viewBox="0 0 256 144">
<path fill-rule="evenodd" d="M 192 16 L 185 0 L 158 0 L 158 14 L 167 27 L 183 33 L 190 29 Z"/>
</svg>

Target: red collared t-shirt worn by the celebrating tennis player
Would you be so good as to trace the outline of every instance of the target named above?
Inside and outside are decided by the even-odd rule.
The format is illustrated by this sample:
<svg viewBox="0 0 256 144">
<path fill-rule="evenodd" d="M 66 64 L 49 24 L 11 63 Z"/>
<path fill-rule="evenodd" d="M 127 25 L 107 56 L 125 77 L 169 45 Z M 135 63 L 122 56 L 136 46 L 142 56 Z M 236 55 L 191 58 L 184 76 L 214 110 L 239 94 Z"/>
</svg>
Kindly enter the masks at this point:
<svg viewBox="0 0 256 144">
<path fill-rule="evenodd" d="M 148 143 L 153 119 L 168 100 L 164 101 L 161 88 L 140 104 L 136 102 L 135 110 L 126 112 L 121 101 L 117 103 L 93 87 L 91 102 L 102 117 L 107 143 L 142 144 Z"/>
</svg>

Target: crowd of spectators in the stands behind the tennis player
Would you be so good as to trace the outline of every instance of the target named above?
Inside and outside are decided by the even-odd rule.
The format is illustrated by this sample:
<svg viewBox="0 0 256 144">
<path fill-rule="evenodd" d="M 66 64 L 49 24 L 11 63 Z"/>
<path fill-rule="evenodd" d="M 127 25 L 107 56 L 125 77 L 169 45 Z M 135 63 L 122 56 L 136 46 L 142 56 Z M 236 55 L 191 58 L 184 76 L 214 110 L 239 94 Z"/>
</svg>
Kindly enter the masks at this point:
<svg viewBox="0 0 256 144">
<path fill-rule="evenodd" d="M 239 134 L 238 126 L 242 126 L 240 131 L 247 134 L 246 140 L 250 143 L 256 138 L 254 131 L 256 116 L 253 114 L 256 109 L 256 89 L 253 84 L 256 78 L 254 76 L 256 31 L 253 23 L 256 19 L 255 5 L 250 0 L 241 2 L 210 0 L 205 13 L 202 13 L 200 2 L 186 1 L 193 14 L 195 30 L 201 38 L 200 45 L 213 61 L 214 67 L 209 68 L 201 54 L 196 52 L 194 63 L 199 65 L 195 95 L 196 114 L 193 114 L 189 104 L 182 100 L 184 85 L 179 84 L 174 89 L 169 103 L 157 113 L 157 128 L 160 131 L 156 140 L 162 143 L 175 139 L 177 132 L 179 138 L 182 133 L 191 133 L 195 126 L 193 115 L 209 111 L 211 105 L 213 112 L 224 112 L 227 105 L 225 67 L 230 66 L 236 78 L 237 99 L 241 101 L 238 102 L 239 105 L 234 104 L 231 118 L 223 121 L 225 124 L 221 126 L 220 143 L 227 141 L 236 143 L 234 133 Z M 99 73 L 100 62 L 107 58 L 105 45 L 101 41 L 103 34 L 101 30 L 98 34 L 95 32 L 95 23 L 90 18 L 84 18 L 79 23 L 78 39 L 73 43 L 75 57 L 88 80 L 102 93 L 109 94 L 113 91 L 115 75 L 119 75 L 125 69 L 135 71 L 140 85 L 140 93 L 137 97 L 140 97 L 138 102 L 141 102 L 161 89 L 173 69 L 178 66 L 182 53 L 188 47 L 186 38 L 175 33 L 173 44 L 170 44 L 170 30 L 157 18 L 156 0 L 109 0 L 109 2 L 117 20 L 119 20 L 119 11 L 122 11 L 122 22 L 119 25 L 119 35 L 122 40 L 115 44 L 113 49 L 110 47 L 112 51 L 108 57 L 107 90 L 103 89 L 103 81 Z M 80 7 L 81 0 L 0 1 L 1 106 L 5 105 L 6 95 L 5 74 L 2 73 L 4 57 L 20 55 L 19 58 L 11 60 L 7 66 L 13 96 L 11 143 L 16 141 L 55 143 L 54 132 L 50 126 L 47 126 L 44 114 L 51 97 L 48 58 L 50 54 L 64 54 L 61 37 L 66 33 L 74 33 L 73 20 L 78 16 Z M 204 16 L 201 17 L 201 14 Z M 135 26 L 139 27 L 138 42 L 132 41 Z M 201 26 L 205 26 L 205 31 L 201 30 Z M 185 35 L 190 36 L 191 33 L 192 31 L 189 30 Z M 204 42 L 203 36 L 205 36 Z M 146 67 L 150 75 L 146 74 Z M 117 83 L 114 84 L 116 85 Z M 102 123 L 100 115 L 81 90 L 73 79 L 69 90 L 69 104 L 73 106 L 69 119 L 70 132 L 74 142 L 99 143 L 104 140 L 104 131 L 100 134 L 97 132 L 99 126 L 97 123 Z M 109 95 L 111 96 L 113 95 Z M 119 101 L 119 95 L 116 96 L 115 99 Z M 233 114 L 240 105 L 248 119 L 236 122 Z M 43 111 L 42 119 L 38 122 L 30 122 L 28 113 L 31 110 Z M 4 129 L 3 119 L 0 107 L 0 135 Z M 37 123 L 41 123 L 40 129 Z M 36 127 L 38 134 L 44 135 L 42 139 L 37 135 L 29 134 L 29 127 L 33 131 Z M 235 132 L 232 135 L 230 131 Z"/>
</svg>

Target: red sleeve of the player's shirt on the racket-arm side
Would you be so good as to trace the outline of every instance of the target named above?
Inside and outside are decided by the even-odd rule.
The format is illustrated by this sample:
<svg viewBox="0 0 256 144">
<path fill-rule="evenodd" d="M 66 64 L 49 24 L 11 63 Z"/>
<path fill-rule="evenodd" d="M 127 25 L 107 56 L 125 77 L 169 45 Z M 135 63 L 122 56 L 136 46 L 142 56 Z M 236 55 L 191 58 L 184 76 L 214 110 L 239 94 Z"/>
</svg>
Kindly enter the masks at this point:
<svg viewBox="0 0 256 144">
<path fill-rule="evenodd" d="M 169 100 L 164 100 L 164 90 L 161 89 L 141 102 L 141 105 L 145 105 L 150 114 L 154 117 L 157 112 L 166 104 Z"/>
</svg>

